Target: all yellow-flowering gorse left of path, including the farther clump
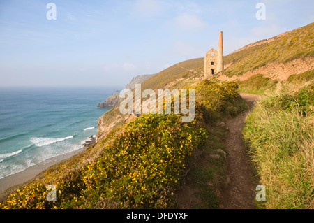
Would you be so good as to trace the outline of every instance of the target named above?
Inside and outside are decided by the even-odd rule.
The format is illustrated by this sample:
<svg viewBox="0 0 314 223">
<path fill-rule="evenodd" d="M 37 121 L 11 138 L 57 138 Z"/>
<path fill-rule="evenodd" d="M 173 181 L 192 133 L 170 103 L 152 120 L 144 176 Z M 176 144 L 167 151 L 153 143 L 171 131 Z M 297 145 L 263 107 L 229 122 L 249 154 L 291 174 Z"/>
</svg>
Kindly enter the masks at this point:
<svg viewBox="0 0 314 223">
<path fill-rule="evenodd" d="M 210 138 L 204 120 L 209 122 L 211 112 L 227 113 L 239 100 L 234 83 L 204 81 L 196 94 L 193 122 L 181 122 L 181 115 L 142 115 L 82 154 L 49 168 L 11 193 L 0 208 L 174 207 L 186 157 Z M 216 104 L 207 103 L 216 96 Z M 48 202 L 46 186 L 51 184 L 57 188 L 57 201 Z"/>
</svg>

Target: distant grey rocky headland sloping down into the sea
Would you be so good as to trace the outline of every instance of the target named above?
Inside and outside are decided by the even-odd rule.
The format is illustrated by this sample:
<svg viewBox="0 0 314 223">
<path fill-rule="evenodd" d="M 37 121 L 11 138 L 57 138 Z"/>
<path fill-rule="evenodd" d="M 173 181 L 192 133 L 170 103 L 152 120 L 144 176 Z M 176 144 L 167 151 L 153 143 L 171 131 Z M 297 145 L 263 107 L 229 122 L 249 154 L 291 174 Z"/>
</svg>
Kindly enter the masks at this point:
<svg viewBox="0 0 314 223">
<path fill-rule="evenodd" d="M 137 75 L 135 78 L 133 78 L 128 85 L 124 89 L 133 89 L 135 88 L 136 84 L 140 84 L 144 82 L 145 80 L 148 80 L 151 78 L 154 74 L 147 74 L 147 75 Z M 98 108 L 105 108 L 105 107 L 114 107 L 119 106 L 121 102 L 121 99 L 119 98 L 119 94 L 112 94 L 109 96 L 105 102 L 98 103 Z"/>
</svg>

